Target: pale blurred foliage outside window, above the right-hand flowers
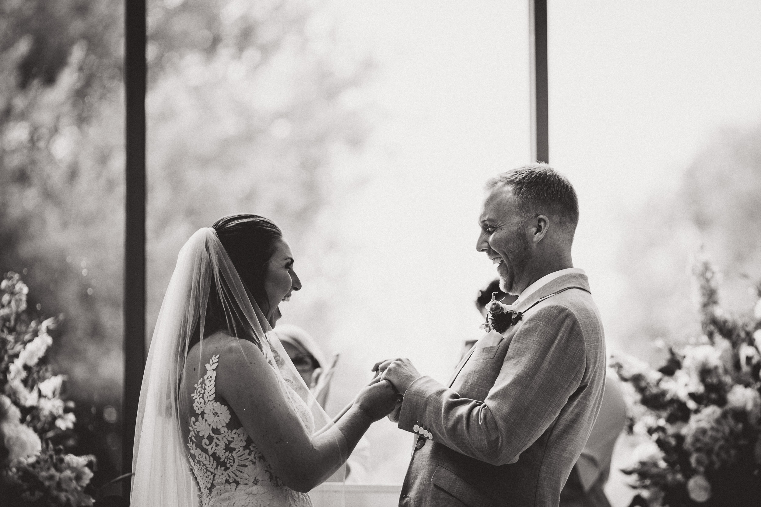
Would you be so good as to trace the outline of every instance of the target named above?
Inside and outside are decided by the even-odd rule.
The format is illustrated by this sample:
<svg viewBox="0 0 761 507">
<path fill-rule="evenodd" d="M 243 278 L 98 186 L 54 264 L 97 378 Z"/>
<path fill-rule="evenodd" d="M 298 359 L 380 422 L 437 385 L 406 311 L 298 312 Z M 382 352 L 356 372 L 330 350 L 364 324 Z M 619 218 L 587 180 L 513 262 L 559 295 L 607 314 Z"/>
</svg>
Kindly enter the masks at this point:
<svg viewBox="0 0 761 507">
<path fill-rule="evenodd" d="M 667 359 L 668 345 L 699 335 L 699 293 L 691 285 L 691 259 L 700 249 L 715 263 L 721 297 L 735 313 L 756 301 L 761 279 L 761 125 L 726 128 L 695 157 L 675 194 L 654 195 L 622 227 L 619 268 L 626 322 L 619 341 L 652 364 Z M 654 344 L 649 353 L 643 341 Z"/>
</svg>

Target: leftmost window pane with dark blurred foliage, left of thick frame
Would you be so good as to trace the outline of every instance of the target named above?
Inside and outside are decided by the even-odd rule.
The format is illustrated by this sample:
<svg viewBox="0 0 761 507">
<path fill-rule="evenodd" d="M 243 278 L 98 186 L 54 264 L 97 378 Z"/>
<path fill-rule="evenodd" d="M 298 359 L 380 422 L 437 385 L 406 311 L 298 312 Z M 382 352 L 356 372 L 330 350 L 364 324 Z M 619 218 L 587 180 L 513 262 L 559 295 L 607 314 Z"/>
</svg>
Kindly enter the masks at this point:
<svg viewBox="0 0 761 507">
<path fill-rule="evenodd" d="M 120 472 L 122 54 L 121 2 L 2 2 L 0 271 L 64 316 L 49 359 L 77 423 L 43 440 L 96 455 L 94 486 Z"/>
</svg>

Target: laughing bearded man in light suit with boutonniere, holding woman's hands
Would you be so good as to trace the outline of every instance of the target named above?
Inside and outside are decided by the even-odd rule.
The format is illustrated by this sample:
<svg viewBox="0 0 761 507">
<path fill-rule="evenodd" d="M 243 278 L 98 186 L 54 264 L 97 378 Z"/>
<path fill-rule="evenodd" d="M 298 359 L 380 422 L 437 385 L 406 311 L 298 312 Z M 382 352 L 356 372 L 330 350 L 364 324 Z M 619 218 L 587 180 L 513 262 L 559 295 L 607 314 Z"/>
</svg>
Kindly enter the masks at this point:
<svg viewBox="0 0 761 507">
<path fill-rule="evenodd" d="M 546 164 L 486 183 L 476 248 L 497 264 L 521 318 L 490 331 L 447 385 L 406 359 L 374 369 L 403 395 L 418 433 L 400 507 L 556 507 L 594 424 L 605 382 L 600 314 L 571 245 L 576 192 Z"/>
</svg>

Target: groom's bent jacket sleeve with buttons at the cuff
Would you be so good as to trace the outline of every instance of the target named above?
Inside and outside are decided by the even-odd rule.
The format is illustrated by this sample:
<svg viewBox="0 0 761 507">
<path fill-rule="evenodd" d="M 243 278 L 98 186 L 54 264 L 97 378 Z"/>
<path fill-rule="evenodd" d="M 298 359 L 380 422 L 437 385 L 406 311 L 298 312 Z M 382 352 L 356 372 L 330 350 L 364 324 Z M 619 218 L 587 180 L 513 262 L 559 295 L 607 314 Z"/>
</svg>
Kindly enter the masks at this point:
<svg viewBox="0 0 761 507">
<path fill-rule="evenodd" d="M 544 306 L 515 332 L 484 401 L 462 398 L 422 376 L 404 394 L 399 427 L 412 431 L 419 423 L 435 442 L 460 454 L 493 465 L 514 463 L 581 385 L 585 361 L 584 335 L 572 310 Z"/>
</svg>

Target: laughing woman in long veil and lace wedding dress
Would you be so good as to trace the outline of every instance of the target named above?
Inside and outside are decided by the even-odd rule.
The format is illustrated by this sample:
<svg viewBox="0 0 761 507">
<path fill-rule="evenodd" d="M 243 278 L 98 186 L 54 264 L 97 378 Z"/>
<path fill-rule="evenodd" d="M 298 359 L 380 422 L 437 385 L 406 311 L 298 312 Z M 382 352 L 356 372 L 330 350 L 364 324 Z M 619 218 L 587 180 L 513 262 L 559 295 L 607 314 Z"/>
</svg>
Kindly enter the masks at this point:
<svg viewBox="0 0 761 507">
<path fill-rule="evenodd" d="M 335 422 L 272 328 L 301 288 L 279 228 L 237 214 L 177 258 L 145 365 L 130 505 L 304 507 L 396 403 L 368 385 Z"/>
</svg>

